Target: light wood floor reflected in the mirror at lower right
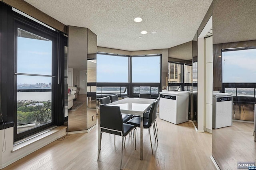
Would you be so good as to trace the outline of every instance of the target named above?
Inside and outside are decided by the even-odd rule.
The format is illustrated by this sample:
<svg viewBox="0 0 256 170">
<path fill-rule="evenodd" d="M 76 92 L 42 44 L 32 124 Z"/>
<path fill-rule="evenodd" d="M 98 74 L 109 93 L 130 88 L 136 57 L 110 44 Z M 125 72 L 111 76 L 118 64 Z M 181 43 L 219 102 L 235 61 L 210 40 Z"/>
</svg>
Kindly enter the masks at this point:
<svg viewBox="0 0 256 170">
<path fill-rule="evenodd" d="M 253 129 L 253 123 L 236 121 L 232 126 L 213 129 L 212 155 L 220 169 L 234 170 L 238 162 L 256 160 Z"/>
</svg>

